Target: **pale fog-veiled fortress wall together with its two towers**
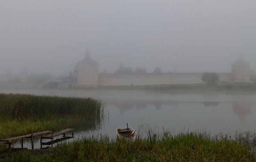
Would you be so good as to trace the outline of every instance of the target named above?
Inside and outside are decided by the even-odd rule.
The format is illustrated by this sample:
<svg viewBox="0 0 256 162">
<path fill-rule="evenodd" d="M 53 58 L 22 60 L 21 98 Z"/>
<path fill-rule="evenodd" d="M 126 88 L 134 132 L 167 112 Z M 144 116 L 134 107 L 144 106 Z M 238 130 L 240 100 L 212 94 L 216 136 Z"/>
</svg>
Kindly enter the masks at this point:
<svg viewBox="0 0 256 162">
<path fill-rule="evenodd" d="M 250 81 L 249 63 L 241 57 L 232 63 L 231 73 L 217 73 L 220 84 L 244 84 Z M 119 68 L 123 68 L 123 63 Z M 77 64 L 77 87 L 123 86 L 123 85 L 159 85 L 159 84 L 201 84 L 203 73 L 147 73 L 147 74 L 98 74 L 98 62 L 91 59 L 87 49 L 85 58 Z"/>
</svg>

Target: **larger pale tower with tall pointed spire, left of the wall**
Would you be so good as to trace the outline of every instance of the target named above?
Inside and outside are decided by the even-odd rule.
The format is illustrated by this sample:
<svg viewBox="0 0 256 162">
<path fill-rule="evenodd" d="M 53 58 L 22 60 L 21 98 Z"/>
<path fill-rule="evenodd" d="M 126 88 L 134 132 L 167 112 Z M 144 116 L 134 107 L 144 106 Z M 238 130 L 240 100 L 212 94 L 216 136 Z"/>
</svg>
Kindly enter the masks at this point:
<svg viewBox="0 0 256 162">
<path fill-rule="evenodd" d="M 98 62 L 91 59 L 87 48 L 85 58 L 77 63 L 77 86 L 98 87 Z"/>
</svg>

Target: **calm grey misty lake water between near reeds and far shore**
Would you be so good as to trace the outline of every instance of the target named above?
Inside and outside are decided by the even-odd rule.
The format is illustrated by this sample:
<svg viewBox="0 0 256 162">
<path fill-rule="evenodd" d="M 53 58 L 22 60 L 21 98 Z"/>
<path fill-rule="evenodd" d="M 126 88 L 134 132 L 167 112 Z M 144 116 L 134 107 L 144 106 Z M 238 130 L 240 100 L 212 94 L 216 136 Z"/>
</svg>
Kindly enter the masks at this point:
<svg viewBox="0 0 256 162">
<path fill-rule="evenodd" d="M 76 131 L 76 137 L 102 134 L 116 137 L 116 128 L 148 124 L 156 132 L 206 130 L 212 135 L 255 132 L 256 94 L 246 92 L 161 93 L 144 90 L 2 89 L 0 93 L 94 97 L 105 102 L 99 130 Z M 35 147 L 36 148 L 36 147 Z"/>
</svg>

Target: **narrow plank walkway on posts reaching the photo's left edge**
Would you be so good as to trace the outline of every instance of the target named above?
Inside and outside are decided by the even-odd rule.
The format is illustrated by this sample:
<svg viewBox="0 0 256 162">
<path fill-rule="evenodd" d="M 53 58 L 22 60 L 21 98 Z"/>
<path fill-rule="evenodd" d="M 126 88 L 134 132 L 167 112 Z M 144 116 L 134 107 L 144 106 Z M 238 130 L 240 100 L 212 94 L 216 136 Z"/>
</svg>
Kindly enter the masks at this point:
<svg viewBox="0 0 256 162">
<path fill-rule="evenodd" d="M 21 139 L 21 148 L 23 148 L 23 139 L 24 138 L 31 138 L 31 145 L 32 145 L 32 149 L 34 149 L 34 141 L 33 138 L 36 135 L 42 135 L 42 134 L 46 134 L 46 133 L 51 133 L 51 130 L 47 130 L 47 131 L 43 131 L 43 132 L 37 132 L 37 133 L 31 133 L 31 134 L 27 134 L 27 135 L 23 135 L 23 136 L 17 136 L 17 137 L 11 137 L 11 138 L 6 138 L 6 139 L 1 139 L 0 140 L 0 144 L 9 144 L 9 151 L 12 151 L 12 141 L 13 140 L 18 140 Z"/>
</svg>

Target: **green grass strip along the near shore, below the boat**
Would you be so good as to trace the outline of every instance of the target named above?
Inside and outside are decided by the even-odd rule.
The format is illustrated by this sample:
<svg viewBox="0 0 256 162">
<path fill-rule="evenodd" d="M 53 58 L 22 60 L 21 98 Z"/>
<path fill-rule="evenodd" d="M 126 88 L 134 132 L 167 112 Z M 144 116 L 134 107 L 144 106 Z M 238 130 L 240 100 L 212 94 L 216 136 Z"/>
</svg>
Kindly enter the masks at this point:
<svg viewBox="0 0 256 162">
<path fill-rule="evenodd" d="M 244 144 L 243 139 L 200 132 L 153 135 L 133 142 L 87 137 L 60 144 L 50 153 L 20 152 L 3 161 L 256 161 L 252 145 Z"/>
</svg>

